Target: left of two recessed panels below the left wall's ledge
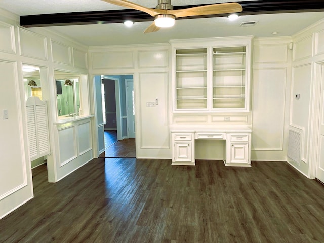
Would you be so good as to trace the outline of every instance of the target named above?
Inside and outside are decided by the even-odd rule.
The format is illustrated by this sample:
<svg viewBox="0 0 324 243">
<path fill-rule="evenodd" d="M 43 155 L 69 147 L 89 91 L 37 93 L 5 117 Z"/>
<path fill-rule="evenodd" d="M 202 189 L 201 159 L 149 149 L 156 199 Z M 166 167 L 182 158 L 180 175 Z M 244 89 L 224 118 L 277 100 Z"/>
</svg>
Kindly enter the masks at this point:
<svg viewBox="0 0 324 243">
<path fill-rule="evenodd" d="M 60 166 L 76 158 L 76 144 L 74 127 L 67 127 L 58 130 Z"/>
</svg>

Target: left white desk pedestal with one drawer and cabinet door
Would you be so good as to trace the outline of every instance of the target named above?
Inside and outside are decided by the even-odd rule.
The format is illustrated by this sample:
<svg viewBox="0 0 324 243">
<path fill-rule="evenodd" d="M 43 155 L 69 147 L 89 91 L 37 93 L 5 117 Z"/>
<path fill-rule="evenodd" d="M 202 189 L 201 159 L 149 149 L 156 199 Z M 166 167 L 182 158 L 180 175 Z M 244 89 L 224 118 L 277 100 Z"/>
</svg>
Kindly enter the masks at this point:
<svg viewBox="0 0 324 243">
<path fill-rule="evenodd" d="M 174 133 L 172 144 L 172 165 L 195 165 L 193 134 Z"/>
</svg>

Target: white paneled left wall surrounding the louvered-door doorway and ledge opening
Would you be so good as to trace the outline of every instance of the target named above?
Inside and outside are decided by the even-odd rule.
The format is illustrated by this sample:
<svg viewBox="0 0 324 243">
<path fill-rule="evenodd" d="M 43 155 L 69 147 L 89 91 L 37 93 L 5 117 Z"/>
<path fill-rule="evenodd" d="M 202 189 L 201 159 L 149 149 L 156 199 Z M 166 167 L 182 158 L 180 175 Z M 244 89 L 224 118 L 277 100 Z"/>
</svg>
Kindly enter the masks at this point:
<svg viewBox="0 0 324 243">
<path fill-rule="evenodd" d="M 56 182 L 93 158 L 87 80 L 88 47 L 46 28 L 25 29 L 19 16 L 0 9 L 0 74 L 5 86 L 0 90 L 0 218 L 33 197 L 29 158 L 27 110 L 22 65 L 40 68 L 42 97 L 48 104 L 48 135 L 52 152 L 47 155 L 49 181 Z M 80 80 L 83 120 L 71 120 L 75 129 L 76 158 L 60 165 L 54 70 L 83 75 Z M 6 113 L 5 117 L 3 113 Z M 44 118 L 44 117 L 43 117 Z M 42 128 L 41 128 L 42 129 Z M 40 148 L 40 147 L 39 147 Z M 39 154 L 41 150 L 39 149 Z M 68 156 L 62 157 L 68 160 Z M 61 167 L 60 167 L 61 166 Z"/>
</svg>

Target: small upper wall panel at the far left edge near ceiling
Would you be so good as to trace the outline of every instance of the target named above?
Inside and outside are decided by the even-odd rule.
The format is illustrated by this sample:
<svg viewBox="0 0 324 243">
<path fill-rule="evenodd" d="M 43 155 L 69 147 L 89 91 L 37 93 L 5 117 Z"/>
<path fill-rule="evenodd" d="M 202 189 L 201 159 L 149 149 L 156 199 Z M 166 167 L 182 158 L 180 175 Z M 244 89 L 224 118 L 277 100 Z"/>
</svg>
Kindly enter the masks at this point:
<svg viewBox="0 0 324 243">
<path fill-rule="evenodd" d="M 15 29 L 13 25 L 0 21 L 0 51 L 16 53 Z"/>
</svg>

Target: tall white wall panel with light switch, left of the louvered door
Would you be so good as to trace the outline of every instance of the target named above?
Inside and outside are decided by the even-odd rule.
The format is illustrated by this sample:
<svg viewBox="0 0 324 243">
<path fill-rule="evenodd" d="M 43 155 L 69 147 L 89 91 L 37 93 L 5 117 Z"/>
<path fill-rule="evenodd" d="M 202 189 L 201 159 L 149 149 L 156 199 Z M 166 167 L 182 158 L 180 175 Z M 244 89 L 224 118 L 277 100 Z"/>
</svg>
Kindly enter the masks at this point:
<svg viewBox="0 0 324 243">
<path fill-rule="evenodd" d="M 12 41 L 12 35 L 8 37 Z M 0 55 L 1 56 L 1 55 Z M 0 74 L 6 85 L 0 90 L 0 218 L 33 197 L 30 161 L 27 152 L 27 131 L 24 129 L 24 103 L 19 94 L 17 63 L 0 60 Z M 23 92 L 22 92 L 23 93 Z M 7 112 L 4 112 L 7 111 Z"/>
</svg>

